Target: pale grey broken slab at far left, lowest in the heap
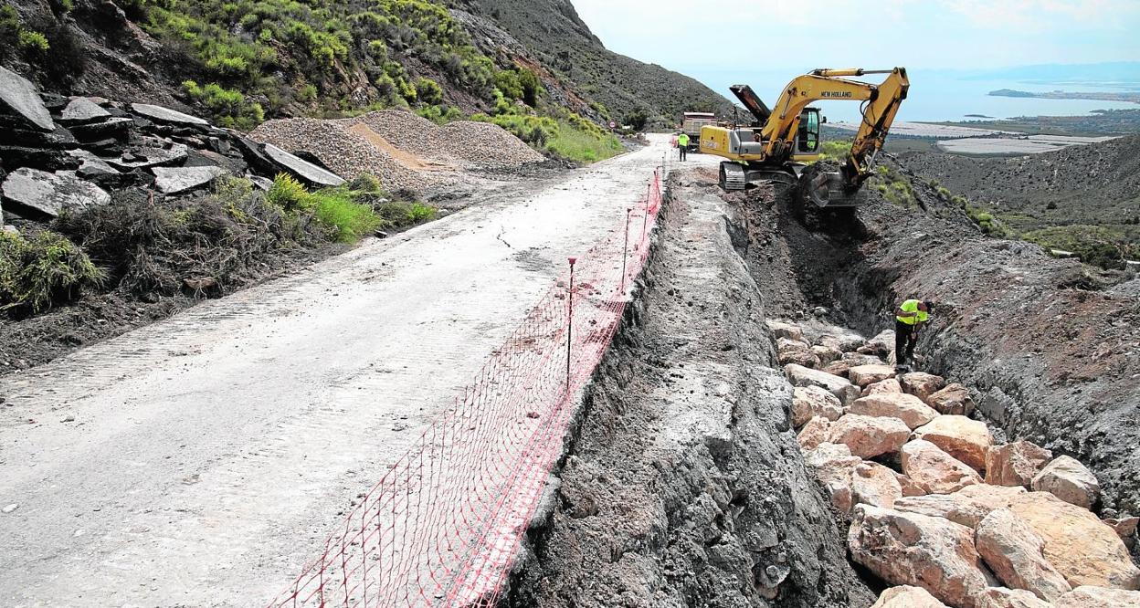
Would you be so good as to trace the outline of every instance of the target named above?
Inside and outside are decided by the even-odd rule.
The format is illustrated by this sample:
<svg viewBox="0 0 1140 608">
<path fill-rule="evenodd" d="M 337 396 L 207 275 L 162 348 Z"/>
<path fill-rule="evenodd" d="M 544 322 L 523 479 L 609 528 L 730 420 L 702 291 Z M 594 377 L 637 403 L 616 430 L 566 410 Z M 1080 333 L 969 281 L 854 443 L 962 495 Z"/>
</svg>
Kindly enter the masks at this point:
<svg viewBox="0 0 1140 608">
<path fill-rule="evenodd" d="M 82 209 L 111 203 L 111 195 L 98 186 L 81 180 L 72 171 L 48 173 L 36 169 L 18 169 L 8 174 L 3 186 L 5 202 L 28 219 L 57 217 L 65 209 Z"/>
</svg>

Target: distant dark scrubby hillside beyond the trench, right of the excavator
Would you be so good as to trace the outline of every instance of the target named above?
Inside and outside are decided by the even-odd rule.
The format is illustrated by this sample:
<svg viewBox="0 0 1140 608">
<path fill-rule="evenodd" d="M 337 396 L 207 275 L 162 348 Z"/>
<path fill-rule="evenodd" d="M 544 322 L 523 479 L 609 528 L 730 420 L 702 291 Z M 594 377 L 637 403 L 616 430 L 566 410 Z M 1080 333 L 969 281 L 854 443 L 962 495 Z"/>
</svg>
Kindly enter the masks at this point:
<svg viewBox="0 0 1140 608">
<path fill-rule="evenodd" d="M 901 159 L 964 197 L 972 215 L 995 219 L 1002 236 L 1101 265 L 1140 256 L 1140 135 L 1017 158 L 915 153 Z"/>
</svg>

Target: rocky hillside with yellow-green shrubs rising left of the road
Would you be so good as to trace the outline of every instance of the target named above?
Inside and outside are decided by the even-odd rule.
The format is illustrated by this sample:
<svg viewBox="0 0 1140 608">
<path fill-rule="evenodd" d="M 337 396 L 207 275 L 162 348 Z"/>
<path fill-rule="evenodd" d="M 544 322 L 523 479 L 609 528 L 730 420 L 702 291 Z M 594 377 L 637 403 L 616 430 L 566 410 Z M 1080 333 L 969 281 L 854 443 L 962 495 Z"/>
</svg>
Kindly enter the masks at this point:
<svg viewBox="0 0 1140 608">
<path fill-rule="evenodd" d="M 674 122 L 727 101 L 605 50 L 564 0 L 0 0 L 0 64 L 42 90 L 252 129 L 409 107 Z"/>
</svg>

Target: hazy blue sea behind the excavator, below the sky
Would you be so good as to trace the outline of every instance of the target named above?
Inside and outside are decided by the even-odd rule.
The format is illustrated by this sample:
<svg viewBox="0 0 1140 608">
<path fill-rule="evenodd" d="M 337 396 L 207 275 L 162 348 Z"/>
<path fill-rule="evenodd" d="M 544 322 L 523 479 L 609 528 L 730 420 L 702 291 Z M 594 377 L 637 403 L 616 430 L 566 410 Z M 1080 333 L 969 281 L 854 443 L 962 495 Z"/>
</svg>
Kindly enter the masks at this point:
<svg viewBox="0 0 1140 608">
<path fill-rule="evenodd" d="M 728 91 L 728 85 L 736 83 L 751 84 L 752 89 L 766 104 L 775 102 L 781 89 L 796 75 L 795 72 L 758 72 L 758 73 L 724 73 L 711 72 L 690 73 L 712 90 L 723 92 L 735 101 Z M 1085 99 L 1037 99 L 994 97 L 987 95 L 997 89 L 1015 89 L 1019 91 L 1049 92 L 1122 92 L 1140 91 L 1140 82 L 1106 81 L 1075 82 L 1073 80 L 1049 80 L 1035 77 L 1032 80 L 1017 77 L 994 77 L 990 75 L 954 74 L 946 72 L 907 71 L 911 81 L 910 93 L 898 112 L 898 121 L 976 121 L 980 114 L 994 118 L 1016 116 L 1080 116 L 1096 109 L 1140 109 L 1140 104 L 1124 101 L 1097 101 Z M 881 81 L 883 75 L 866 76 L 868 82 Z M 992 80 L 993 79 L 993 80 Z M 829 121 L 853 122 L 858 120 L 858 104 L 850 101 L 820 101 L 815 104 Z"/>
</svg>

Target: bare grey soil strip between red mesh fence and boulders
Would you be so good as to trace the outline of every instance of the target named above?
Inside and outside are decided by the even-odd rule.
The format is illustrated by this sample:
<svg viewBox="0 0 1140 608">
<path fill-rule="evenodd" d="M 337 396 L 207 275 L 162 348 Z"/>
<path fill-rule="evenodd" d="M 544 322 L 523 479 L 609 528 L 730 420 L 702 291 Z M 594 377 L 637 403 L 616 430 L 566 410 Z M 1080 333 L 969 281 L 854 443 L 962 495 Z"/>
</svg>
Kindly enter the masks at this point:
<svg viewBox="0 0 1140 608">
<path fill-rule="evenodd" d="M 511 607 L 866 607 L 711 188 L 665 220 Z"/>
</svg>

